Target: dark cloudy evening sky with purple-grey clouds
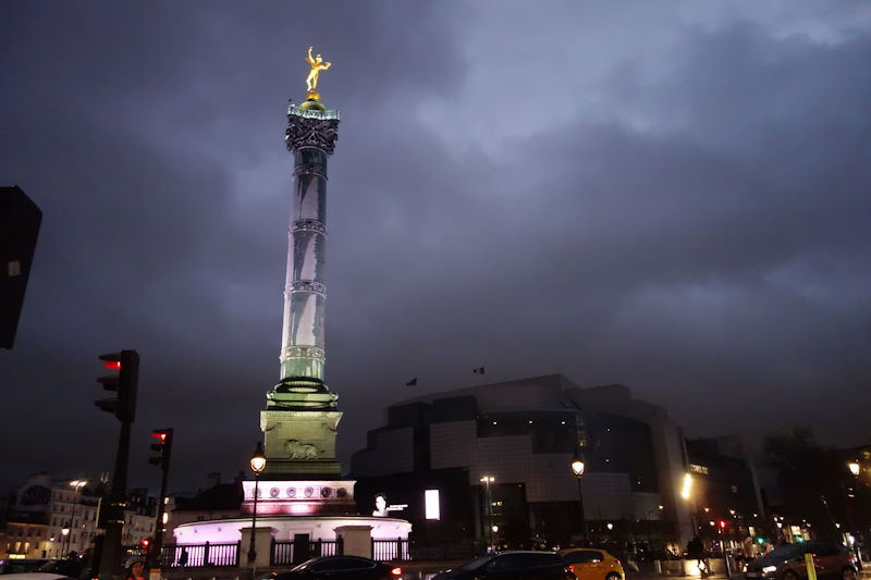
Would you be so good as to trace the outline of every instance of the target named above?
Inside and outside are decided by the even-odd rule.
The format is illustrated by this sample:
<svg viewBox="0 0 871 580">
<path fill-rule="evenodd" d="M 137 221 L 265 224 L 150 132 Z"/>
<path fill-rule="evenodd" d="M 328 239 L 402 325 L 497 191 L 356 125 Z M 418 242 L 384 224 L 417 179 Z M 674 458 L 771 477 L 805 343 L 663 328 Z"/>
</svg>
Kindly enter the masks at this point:
<svg viewBox="0 0 871 580">
<path fill-rule="evenodd" d="M 871 442 L 871 2 L 0 3 L 0 183 L 44 211 L 0 351 L 0 490 L 229 478 L 279 379 L 289 98 L 341 111 L 327 378 L 347 461 L 391 403 L 562 372 L 691 436 Z M 418 377 L 417 387 L 405 382 Z"/>
</svg>

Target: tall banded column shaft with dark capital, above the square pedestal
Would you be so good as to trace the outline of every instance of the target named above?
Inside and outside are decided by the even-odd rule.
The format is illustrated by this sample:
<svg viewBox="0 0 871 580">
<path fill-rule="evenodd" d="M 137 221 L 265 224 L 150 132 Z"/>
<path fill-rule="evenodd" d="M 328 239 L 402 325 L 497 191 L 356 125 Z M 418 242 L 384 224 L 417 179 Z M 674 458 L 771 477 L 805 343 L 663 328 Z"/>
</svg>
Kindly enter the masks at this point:
<svg viewBox="0 0 871 580">
<path fill-rule="evenodd" d="M 306 107 L 309 108 L 306 108 Z M 327 286 L 327 158 L 339 136 L 339 112 L 306 101 L 287 110 L 294 197 L 284 286 L 281 380 L 323 384 Z"/>
</svg>

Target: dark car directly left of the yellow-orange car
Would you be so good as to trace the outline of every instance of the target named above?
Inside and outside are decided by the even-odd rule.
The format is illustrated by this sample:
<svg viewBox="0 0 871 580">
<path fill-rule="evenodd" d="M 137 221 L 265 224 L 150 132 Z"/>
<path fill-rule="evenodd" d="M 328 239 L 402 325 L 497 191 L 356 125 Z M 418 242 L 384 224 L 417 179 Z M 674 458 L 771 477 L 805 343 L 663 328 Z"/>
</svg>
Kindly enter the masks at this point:
<svg viewBox="0 0 871 580">
<path fill-rule="evenodd" d="M 556 552 L 495 552 L 436 575 L 432 580 L 576 580 Z"/>
</svg>

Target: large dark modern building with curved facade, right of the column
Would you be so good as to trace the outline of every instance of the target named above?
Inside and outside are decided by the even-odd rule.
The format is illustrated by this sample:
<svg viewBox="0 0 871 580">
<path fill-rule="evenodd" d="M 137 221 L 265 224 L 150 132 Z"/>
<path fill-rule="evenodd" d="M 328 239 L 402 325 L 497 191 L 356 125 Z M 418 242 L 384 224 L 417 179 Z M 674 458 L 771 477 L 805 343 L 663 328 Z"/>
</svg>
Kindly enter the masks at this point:
<svg viewBox="0 0 871 580">
<path fill-rule="evenodd" d="M 624 385 L 581 388 L 560 374 L 393 405 L 351 467 L 361 513 L 380 492 L 418 541 L 512 547 L 580 541 L 581 494 L 591 539 L 685 545 L 685 472 L 683 433 L 661 408 Z M 428 517 L 427 491 L 439 497 L 438 519 Z"/>
</svg>

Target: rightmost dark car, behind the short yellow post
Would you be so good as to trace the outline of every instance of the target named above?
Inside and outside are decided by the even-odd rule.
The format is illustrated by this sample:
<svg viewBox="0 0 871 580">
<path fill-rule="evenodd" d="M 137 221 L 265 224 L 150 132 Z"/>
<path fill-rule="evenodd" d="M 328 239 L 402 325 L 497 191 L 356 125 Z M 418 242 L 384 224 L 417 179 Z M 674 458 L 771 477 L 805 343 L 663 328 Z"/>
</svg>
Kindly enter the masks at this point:
<svg viewBox="0 0 871 580">
<path fill-rule="evenodd" d="M 818 578 L 856 580 L 856 565 L 846 548 L 825 542 L 777 546 L 747 564 L 744 576 L 759 580 L 801 580 L 808 577 L 805 554 L 813 555 Z"/>
</svg>

